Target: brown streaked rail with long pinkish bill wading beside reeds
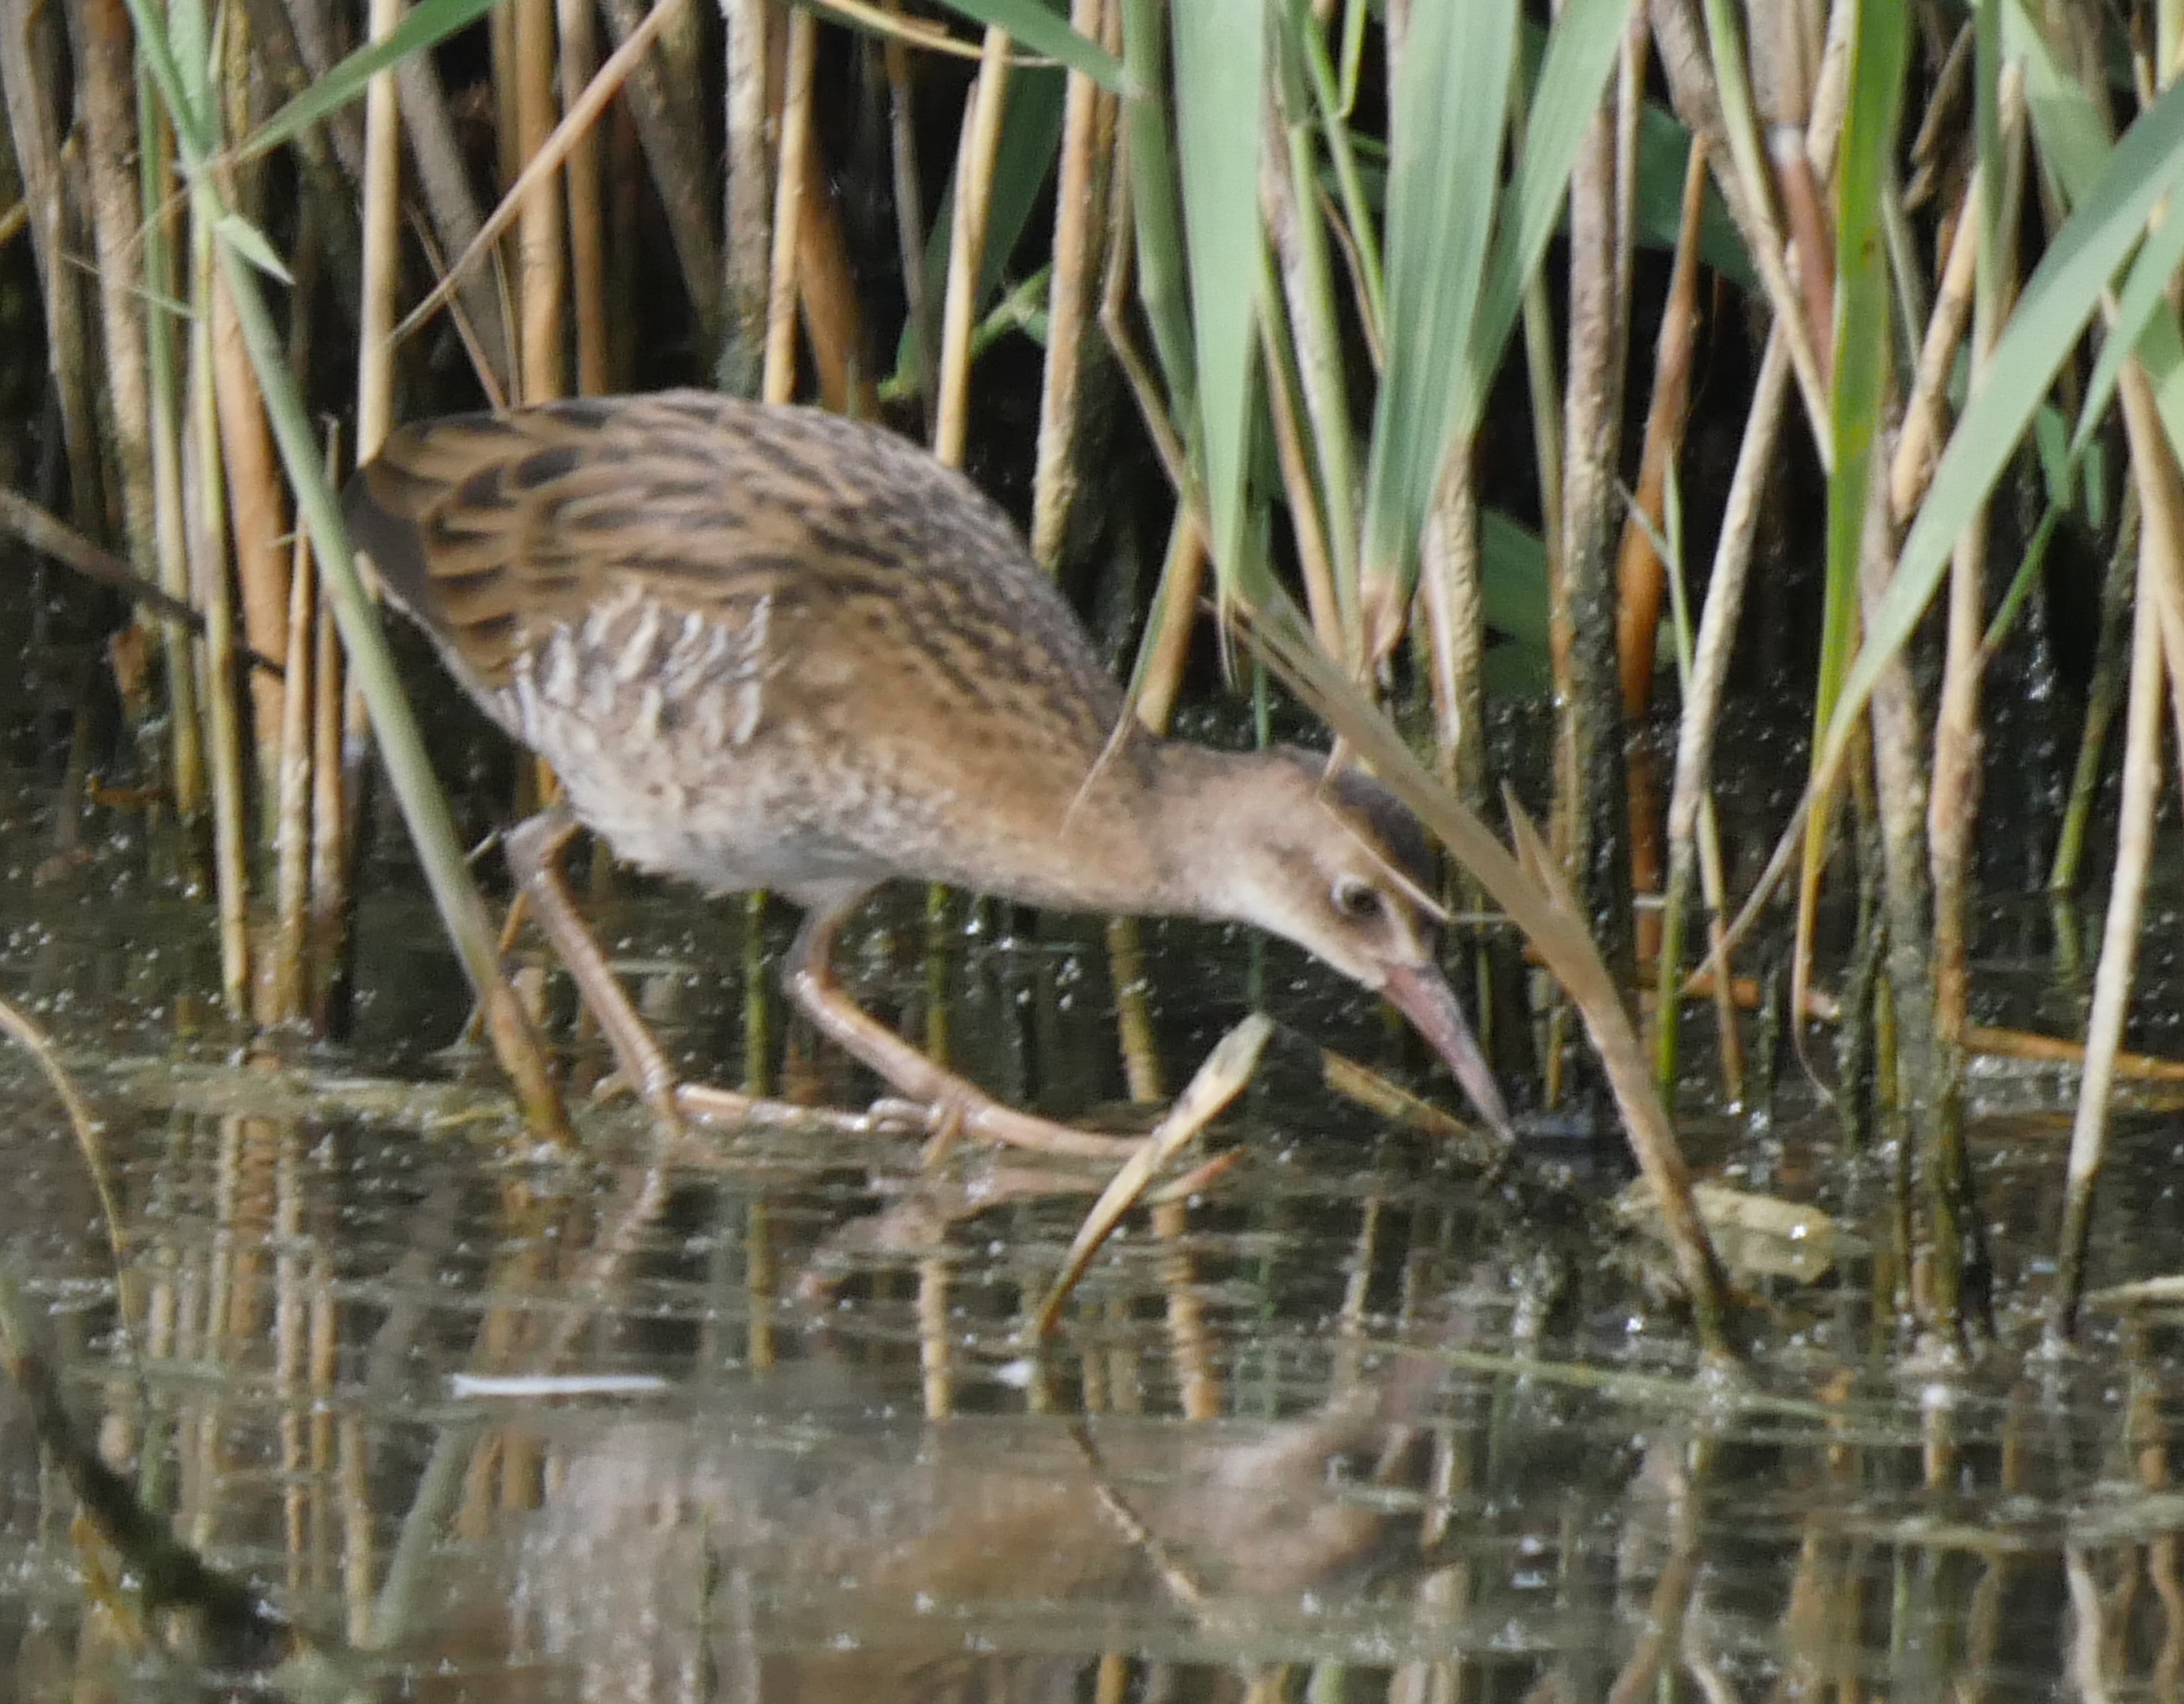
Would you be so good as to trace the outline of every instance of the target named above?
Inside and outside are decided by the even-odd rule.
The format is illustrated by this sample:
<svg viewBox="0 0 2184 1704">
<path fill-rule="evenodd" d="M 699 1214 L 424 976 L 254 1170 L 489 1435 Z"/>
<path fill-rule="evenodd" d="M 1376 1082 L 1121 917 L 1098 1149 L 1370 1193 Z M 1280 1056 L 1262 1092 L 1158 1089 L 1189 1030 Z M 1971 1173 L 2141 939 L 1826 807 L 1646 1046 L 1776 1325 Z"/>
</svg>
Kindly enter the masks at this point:
<svg viewBox="0 0 2184 1704">
<path fill-rule="evenodd" d="M 446 415 L 391 433 L 343 516 L 557 773 L 509 865 L 662 1119 L 747 1103 L 681 1084 L 629 1003 L 561 876 L 579 824 L 640 869 L 799 904 L 791 998 L 935 1129 L 1123 1151 L 1002 1105 L 841 987 L 834 939 L 895 878 L 1286 937 L 1391 1001 L 1509 1138 L 1435 961 L 1417 817 L 1299 747 L 1140 727 L 1007 513 L 906 437 L 695 389 Z"/>
</svg>

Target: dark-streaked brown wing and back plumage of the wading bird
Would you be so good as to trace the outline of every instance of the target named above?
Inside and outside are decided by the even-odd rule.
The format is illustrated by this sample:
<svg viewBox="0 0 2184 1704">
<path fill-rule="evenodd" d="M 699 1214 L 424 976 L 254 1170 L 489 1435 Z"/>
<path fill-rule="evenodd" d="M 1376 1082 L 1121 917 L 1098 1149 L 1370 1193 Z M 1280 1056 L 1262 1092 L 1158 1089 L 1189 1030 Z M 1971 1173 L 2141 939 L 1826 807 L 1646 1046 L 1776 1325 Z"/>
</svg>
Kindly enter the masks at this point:
<svg viewBox="0 0 2184 1704">
<path fill-rule="evenodd" d="M 963 710 L 1101 743 L 1120 695 L 1007 516 L 893 433 L 708 391 L 408 426 L 349 483 L 389 594 L 480 686 L 631 585 L 679 614 L 880 603 Z"/>
</svg>

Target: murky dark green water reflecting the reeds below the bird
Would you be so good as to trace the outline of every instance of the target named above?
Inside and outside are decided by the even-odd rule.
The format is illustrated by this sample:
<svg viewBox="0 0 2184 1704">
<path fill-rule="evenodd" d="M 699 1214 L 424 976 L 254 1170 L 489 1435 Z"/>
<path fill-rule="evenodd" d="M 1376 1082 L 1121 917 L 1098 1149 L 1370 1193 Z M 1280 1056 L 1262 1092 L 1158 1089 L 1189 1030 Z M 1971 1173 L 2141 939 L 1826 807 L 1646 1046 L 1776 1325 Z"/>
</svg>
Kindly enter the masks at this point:
<svg viewBox="0 0 2184 1704">
<path fill-rule="evenodd" d="M 1396 1066 L 1402 1038 L 1271 957 L 1256 990 L 1293 1033 L 1212 1138 L 1243 1164 L 1133 1219 L 1033 1359 L 1096 1180 L 961 1156 L 919 1184 L 891 1138 L 664 1149 L 616 1110 L 581 1164 L 542 1156 L 435 1057 L 463 996 L 408 902 L 367 913 L 358 1053 L 245 1064 L 199 1016 L 201 913 L 98 869 L 0 887 L 0 992 L 107 1119 L 144 1295 L 124 1352 L 83 1164 L 0 1053 L 0 1230 L 68 1394 L 207 1555 L 371 1643 L 389 1695 L 2180 1693 L 2177 1333 L 2097 1313 L 2086 1354 L 2029 1354 L 2053 1075 L 1981 1079 L 2005 1339 L 1946 1376 L 1904 1372 L 1887 1158 L 1797 1114 L 1793 1073 L 1769 1129 L 1695 1121 L 1695 1158 L 1878 1252 L 1752 1280 L 1732 1392 L 1599 1208 L 1612 1158 L 1485 1184 L 1348 1108 L 1302 1038 Z M 937 987 L 974 1075 L 1077 1114 L 1120 1094 L 1105 955 L 1042 928 L 952 924 L 935 985 L 911 902 L 845 968 L 911 1033 Z M 673 1042 L 736 1075 L 740 913 L 622 904 L 607 935 L 655 968 Z M 1153 942 L 1173 1088 L 1254 970 L 1206 931 Z M 865 1092 L 793 1029 L 786 1057 L 791 1086 Z M 2123 1129 L 2097 1282 L 2184 1263 L 2177 1147 L 2162 1114 Z M 531 1374 L 622 1385 L 491 1383 Z M 0 1403 L 0 1700 L 173 1695 L 70 1510 Z"/>
</svg>

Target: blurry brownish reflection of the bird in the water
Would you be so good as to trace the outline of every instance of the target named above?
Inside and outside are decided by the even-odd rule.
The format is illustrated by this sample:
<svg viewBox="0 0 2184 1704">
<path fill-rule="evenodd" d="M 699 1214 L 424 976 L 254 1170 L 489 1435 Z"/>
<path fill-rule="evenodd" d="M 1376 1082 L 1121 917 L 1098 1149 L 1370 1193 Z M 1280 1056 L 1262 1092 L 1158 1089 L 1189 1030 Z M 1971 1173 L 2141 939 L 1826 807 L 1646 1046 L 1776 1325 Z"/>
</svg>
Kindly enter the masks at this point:
<svg viewBox="0 0 2184 1704">
<path fill-rule="evenodd" d="M 426 1695 L 1061 1704 L 1103 1695 L 1103 1652 L 1243 1676 L 1415 1545 L 1387 1494 L 1415 1383 L 1273 1424 L 924 1422 L 793 1370 L 743 1407 L 563 1433 L 507 1660 L 472 1645 Z"/>
</svg>

